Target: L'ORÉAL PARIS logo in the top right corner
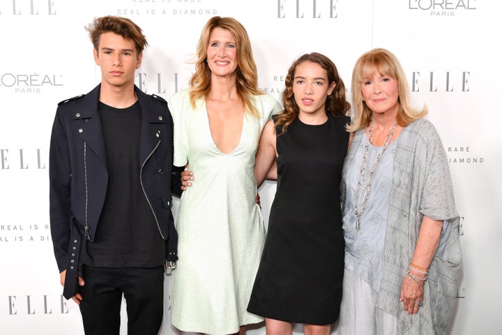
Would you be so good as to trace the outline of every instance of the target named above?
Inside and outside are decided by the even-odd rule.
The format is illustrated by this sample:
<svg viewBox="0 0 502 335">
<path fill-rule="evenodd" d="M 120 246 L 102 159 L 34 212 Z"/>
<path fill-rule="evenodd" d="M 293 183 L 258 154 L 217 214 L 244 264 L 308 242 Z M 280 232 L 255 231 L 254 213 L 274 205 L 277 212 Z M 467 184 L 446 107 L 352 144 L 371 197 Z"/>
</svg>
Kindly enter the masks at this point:
<svg viewBox="0 0 502 335">
<path fill-rule="evenodd" d="M 476 10 L 477 0 L 408 0 L 411 10 L 424 10 L 434 17 L 455 16 L 459 10 Z"/>
</svg>

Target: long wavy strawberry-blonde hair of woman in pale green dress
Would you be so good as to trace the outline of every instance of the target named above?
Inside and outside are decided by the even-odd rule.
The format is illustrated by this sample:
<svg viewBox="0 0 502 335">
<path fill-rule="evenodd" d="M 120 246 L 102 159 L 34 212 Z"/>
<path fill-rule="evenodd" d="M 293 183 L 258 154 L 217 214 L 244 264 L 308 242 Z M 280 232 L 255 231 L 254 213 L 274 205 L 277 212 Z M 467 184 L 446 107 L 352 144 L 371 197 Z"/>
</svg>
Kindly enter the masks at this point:
<svg viewBox="0 0 502 335">
<path fill-rule="evenodd" d="M 248 32 L 243 25 L 233 17 L 211 17 L 202 29 L 199 43 L 197 43 L 197 55 L 195 59 L 195 73 L 190 79 L 190 103 L 195 108 L 198 98 L 206 96 L 211 89 L 211 70 L 206 62 L 207 48 L 211 31 L 216 27 L 227 29 L 236 40 L 237 68 L 236 89 L 237 95 L 243 101 L 246 112 L 254 117 L 259 112 L 251 103 L 251 96 L 263 94 L 258 89 L 257 66 L 254 62 L 251 42 Z"/>
</svg>

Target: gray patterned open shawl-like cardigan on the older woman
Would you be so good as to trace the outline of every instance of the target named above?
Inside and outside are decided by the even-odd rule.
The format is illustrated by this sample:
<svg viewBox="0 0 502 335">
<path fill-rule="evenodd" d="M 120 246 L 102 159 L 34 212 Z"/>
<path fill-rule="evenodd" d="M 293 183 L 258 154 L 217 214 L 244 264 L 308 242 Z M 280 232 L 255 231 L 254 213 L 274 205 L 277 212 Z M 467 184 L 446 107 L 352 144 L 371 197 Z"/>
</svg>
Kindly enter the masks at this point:
<svg viewBox="0 0 502 335">
<path fill-rule="evenodd" d="M 347 166 L 359 147 L 363 132 L 356 132 L 345 158 L 342 193 Z M 396 316 L 397 334 L 446 334 L 457 297 L 462 260 L 459 217 L 448 158 L 436 129 L 426 119 L 418 119 L 403 128 L 397 141 L 385 263 L 377 306 Z M 444 220 L 444 224 L 425 282 L 424 306 L 416 315 L 409 315 L 400 302 L 401 284 L 415 250 L 423 216 Z"/>
</svg>

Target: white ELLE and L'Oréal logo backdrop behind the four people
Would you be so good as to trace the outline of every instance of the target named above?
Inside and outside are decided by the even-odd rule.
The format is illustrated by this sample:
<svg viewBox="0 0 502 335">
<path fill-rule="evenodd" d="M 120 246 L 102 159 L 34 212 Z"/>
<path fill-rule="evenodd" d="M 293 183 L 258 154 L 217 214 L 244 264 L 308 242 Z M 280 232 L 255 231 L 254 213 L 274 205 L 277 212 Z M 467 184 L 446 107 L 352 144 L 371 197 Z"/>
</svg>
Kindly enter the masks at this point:
<svg viewBox="0 0 502 335">
<path fill-rule="evenodd" d="M 349 88 L 360 54 L 374 47 L 394 52 L 413 104 L 428 105 L 441 135 L 462 216 L 464 266 L 450 334 L 499 334 L 500 1 L 0 0 L 1 334 L 84 334 L 77 305 L 61 297 L 52 253 L 48 153 L 57 103 L 100 82 L 84 26 L 103 15 L 129 17 L 142 27 L 150 45 L 136 84 L 166 99 L 188 86 L 200 31 L 214 15 L 246 27 L 259 86 L 276 98 L 289 65 L 303 53 L 333 59 Z M 266 223 L 274 193 L 273 182 L 260 189 Z M 160 334 L 179 334 L 169 322 L 166 278 Z"/>
</svg>

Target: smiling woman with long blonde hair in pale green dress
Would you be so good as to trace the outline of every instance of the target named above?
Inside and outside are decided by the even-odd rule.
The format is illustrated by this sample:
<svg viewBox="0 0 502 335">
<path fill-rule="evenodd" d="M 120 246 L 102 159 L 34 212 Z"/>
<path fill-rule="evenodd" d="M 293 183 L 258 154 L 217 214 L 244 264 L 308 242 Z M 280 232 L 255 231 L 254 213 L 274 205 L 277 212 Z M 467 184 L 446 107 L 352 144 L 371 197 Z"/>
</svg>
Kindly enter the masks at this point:
<svg viewBox="0 0 502 335">
<path fill-rule="evenodd" d="M 246 311 L 265 239 L 254 156 L 262 128 L 281 107 L 257 88 L 242 24 L 231 17 L 206 23 L 190 88 L 172 96 L 169 109 L 174 165 L 190 164 L 192 176 L 176 220 L 172 324 L 187 332 L 244 332 L 263 320 Z"/>
</svg>

